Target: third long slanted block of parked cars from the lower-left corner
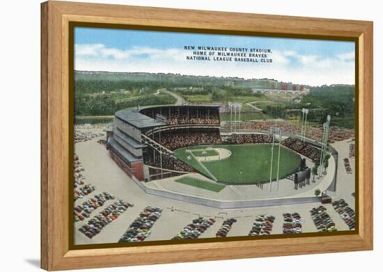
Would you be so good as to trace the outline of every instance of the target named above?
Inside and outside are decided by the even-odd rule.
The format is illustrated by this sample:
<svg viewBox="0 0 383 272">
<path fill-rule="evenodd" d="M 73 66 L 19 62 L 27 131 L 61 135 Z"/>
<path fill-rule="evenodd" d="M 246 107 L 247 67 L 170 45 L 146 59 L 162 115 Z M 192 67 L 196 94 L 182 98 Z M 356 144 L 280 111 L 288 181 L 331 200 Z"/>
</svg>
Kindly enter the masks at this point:
<svg viewBox="0 0 383 272">
<path fill-rule="evenodd" d="M 143 241 L 150 235 L 150 228 L 161 216 L 162 208 L 148 206 L 137 217 L 123 234 L 118 243 Z"/>
</svg>

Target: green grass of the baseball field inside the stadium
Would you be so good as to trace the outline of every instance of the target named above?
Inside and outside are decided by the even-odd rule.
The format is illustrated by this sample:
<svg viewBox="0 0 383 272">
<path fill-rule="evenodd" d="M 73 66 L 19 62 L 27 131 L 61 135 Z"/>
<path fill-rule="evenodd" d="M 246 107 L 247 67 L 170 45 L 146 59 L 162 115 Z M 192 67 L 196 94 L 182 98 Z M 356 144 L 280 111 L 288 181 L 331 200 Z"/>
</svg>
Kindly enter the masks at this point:
<svg viewBox="0 0 383 272">
<path fill-rule="evenodd" d="M 271 145 L 214 145 L 217 148 L 226 148 L 232 152 L 231 156 L 220 161 L 202 161 L 219 182 L 228 184 L 253 184 L 267 182 L 271 167 Z M 194 158 L 188 159 L 186 149 L 201 149 L 201 146 L 185 147 L 175 150 L 175 157 L 189 164 L 201 174 L 210 177 Z M 278 147 L 274 147 L 272 179 L 276 179 L 278 161 Z M 279 165 L 279 178 L 293 173 L 300 165 L 300 157 L 294 152 L 281 147 L 281 160 Z"/>
</svg>

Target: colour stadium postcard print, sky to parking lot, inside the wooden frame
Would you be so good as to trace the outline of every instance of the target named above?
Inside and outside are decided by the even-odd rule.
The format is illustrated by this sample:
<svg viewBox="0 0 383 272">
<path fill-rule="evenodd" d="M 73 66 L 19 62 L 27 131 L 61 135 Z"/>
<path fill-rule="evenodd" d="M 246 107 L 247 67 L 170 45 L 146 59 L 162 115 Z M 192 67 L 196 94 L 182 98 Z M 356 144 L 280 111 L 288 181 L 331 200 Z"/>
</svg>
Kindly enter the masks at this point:
<svg viewBox="0 0 383 272">
<path fill-rule="evenodd" d="M 353 41 L 74 37 L 75 245 L 357 229 Z"/>
</svg>

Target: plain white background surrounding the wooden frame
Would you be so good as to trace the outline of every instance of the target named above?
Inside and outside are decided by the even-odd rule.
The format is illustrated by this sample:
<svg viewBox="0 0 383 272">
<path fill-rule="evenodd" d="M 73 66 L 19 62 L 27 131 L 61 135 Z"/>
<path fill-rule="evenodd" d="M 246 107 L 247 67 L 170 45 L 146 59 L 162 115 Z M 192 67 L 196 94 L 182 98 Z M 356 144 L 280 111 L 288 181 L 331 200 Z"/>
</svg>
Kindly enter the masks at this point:
<svg viewBox="0 0 383 272">
<path fill-rule="evenodd" d="M 85 1 L 85 0 L 84 0 Z M 382 74 L 382 8 L 380 1 L 212 1 L 212 0 L 126 0 L 93 1 L 125 3 L 139 6 L 162 6 L 224 10 L 247 13 L 298 15 L 364 19 L 375 22 L 375 139 L 383 132 L 383 102 L 380 86 Z M 3 271 L 36 271 L 40 257 L 40 1 L 19 0 L 1 3 L 0 42 L 0 111 L 1 111 L 1 258 Z M 25 122 L 13 122 L 25 118 Z M 17 124 L 17 125 L 15 125 Z M 22 125 L 19 125 L 22 124 Z M 22 151 L 24 150 L 24 151 Z M 23 154 L 22 154 L 23 153 Z M 381 264 L 382 244 L 382 165 L 377 154 L 383 154 L 382 142 L 375 141 L 375 250 L 373 252 L 336 253 L 296 257 L 242 259 L 192 264 L 136 266 L 133 268 L 102 269 L 102 271 L 366 271 Z M 20 156 L 22 154 L 22 156 Z M 20 163 L 19 159 L 24 161 Z M 378 196 L 380 198 L 378 199 Z M 4 205 L 13 201 L 15 211 L 8 215 Z M 9 207 L 9 206 L 8 206 Z M 377 212 L 379 211 L 379 213 Z M 27 243 L 20 247 L 18 242 Z"/>
</svg>

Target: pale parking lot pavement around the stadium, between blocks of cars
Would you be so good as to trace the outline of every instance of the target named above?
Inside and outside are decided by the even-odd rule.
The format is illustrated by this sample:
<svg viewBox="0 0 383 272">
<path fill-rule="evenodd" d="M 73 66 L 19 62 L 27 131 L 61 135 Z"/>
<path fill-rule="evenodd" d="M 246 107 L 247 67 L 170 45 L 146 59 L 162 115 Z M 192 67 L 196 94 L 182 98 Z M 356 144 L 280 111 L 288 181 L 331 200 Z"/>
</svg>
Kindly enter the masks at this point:
<svg viewBox="0 0 383 272">
<path fill-rule="evenodd" d="M 161 207 L 162 213 L 160 218 L 150 227 L 150 235 L 145 238 L 145 241 L 170 240 L 179 234 L 180 231 L 184 230 L 185 226 L 200 216 L 203 218 L 212 217 L 215 219 L 215 223 L 201 233 L 198 239 L 216 237 L 222 223 L 224 223 L 227 218 L 235 218 L 237 220 L 237 222 L 233 223 L 230 227 L 227 237 L 247 236 L 251 231 L 256 217 L 263 214 L 275 216 L 270 234 L 283 233 L 283 214 L 286 213 L 299 214 L 303 233 L 318 232 L 311 218 L 310 210 L 320 206 L 320 202 L 303 205 L 286 205 L 282 207 L 215 209 L 146 194 L 116 165 L 111 157 L 109 157 L 109 152 L 104 145 L 97 143 L 97 140 L 98 138 L 96 137 L 91 139 L 91 141 L 81 142 L 75 145 L 75 152 L 79 156 L 81 166 L 84 167 L 84 171 L 81 172 L 85 177 L 84 182 L 85 184 L 95 186 L 94 191 L 75 201 L 75 207 L 103 192 L 114 195 L 116 199 L 107 200 L 103 207 L 98 207 L 92 211 L 89 218 L 75 223 L 75 244 L 117 243 L 137 216 L 149 205 Z M 348 143 L 344 143 L 343 145 L 342 143 L 336 143 L 335 145 L 338 145 L 338 147 L 344 145 L 343 151 L 347 152 L 345 156 L 348 155 Z M 343 152 L 342 148 L 340 148 L 340 150 Z M 340 154 L 340 157 L 341 156 L 343 156 L 343 154 Z M 351 193 L 354 192 L 353 180 L 352 177 L 350 177 L 351 175 L 345 173 L 343 160 L 340 160 L 339 163 L 342 163 L 342 167 L 340 167 L 338 171 L 338 191 L 331 193 L 331 197 L 333 201 L 344 198 L 348 205 L 354 209 L 354 200 L 351 195 Z M 354 159 L 350 159 L 350 165 L 352 168 L 354 167 Z M 343 175 L 345 175 L 347 179 L 343 179 Z M 129 207 L 126 211 L 119 214 L 116 220 L 102 227 L 100 233 L 92 238 L 87 237 L 79 231 L 79 228 L 84 225 L 84 223 L 88 222 L 93 216 L 96 216 L 116 200 L 132 203 L 133 207 Z M 331 220 L 334 221 L 337 230 L 349 230 L 345 221 L 343 221 L 331 204 L 324 206 L 327 209 L 327 214 Z"/>
</svg>

